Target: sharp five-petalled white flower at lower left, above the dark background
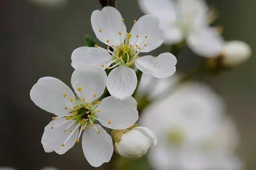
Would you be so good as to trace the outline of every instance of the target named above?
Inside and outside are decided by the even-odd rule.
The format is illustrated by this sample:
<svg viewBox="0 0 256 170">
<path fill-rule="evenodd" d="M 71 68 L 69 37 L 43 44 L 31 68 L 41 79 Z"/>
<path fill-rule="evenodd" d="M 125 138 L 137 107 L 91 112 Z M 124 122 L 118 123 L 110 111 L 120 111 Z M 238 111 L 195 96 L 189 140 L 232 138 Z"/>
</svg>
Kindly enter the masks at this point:
<svg viewBox="0 0 256 170">
<path fill-rule="evenodd" d="M 44 128 L 41 143 L 46 152 L 66 153 L 79 142 L 84 130 L 82 148 L 87 161 L 94 167 L 110 161 L 113 153 L 111 136 L 95 122 L 111 129 L 125 129 L 137 121 L 138 111 L 132 97 L 122 101 L 109 96 L 97 101 L 104 92 L 106 79 L 101 68 L 76 69 L 71 84 L 77 99 L 67 85 L 53 77 L 43 77 L 32 87 L 32 101 L 57 116 Z"/>
</svg>

